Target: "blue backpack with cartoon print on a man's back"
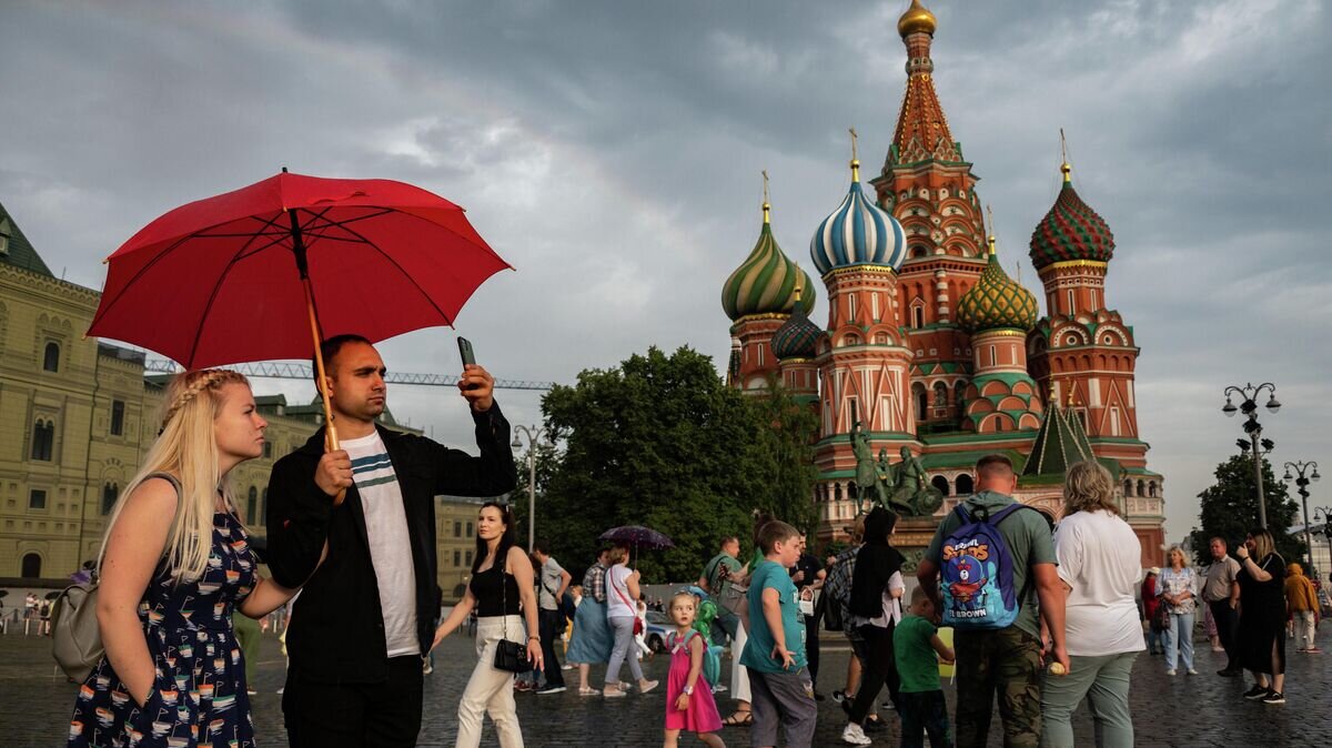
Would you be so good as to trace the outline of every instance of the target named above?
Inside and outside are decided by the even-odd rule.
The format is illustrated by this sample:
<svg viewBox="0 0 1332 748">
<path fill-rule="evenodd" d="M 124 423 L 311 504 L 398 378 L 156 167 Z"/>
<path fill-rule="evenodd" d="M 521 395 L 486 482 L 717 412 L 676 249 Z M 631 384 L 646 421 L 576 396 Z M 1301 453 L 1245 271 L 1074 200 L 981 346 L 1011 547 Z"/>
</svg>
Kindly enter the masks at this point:
<svg viewBox="0 0 1332 748">
<path fill-rule="evenodd" d="M 943 626 L 962 631 L 1006 628 L 1018 620 L 1019 590 L 1012 586 L 1012 551 L 999 532 L 1010 514 L 1031 508 L 1012 503 L 990 514 L 964 504 L 954 510 L 960 524 L 940 548 Z"/>
</svg>

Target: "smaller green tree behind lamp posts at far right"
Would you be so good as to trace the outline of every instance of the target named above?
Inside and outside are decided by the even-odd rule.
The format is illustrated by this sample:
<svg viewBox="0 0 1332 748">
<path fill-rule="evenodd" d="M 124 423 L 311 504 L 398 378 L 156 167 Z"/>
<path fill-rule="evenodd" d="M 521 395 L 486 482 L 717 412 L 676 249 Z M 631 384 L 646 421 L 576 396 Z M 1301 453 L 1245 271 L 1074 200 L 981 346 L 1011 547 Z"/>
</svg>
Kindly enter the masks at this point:
<svg viewBox="0 0 1332 748">
<path fill-rule="evenodd" d="M 1253 491 L 1253 458 L 1235 455 L 1216 466 L 1216 483 L 1197 495 L 1199 520 L 1189 534 L 1193 556 L 1199 564 L 1212 563 L 1208 550 L 1211 538 L 1225 538 L 1231 550 L 1243 543 L 1259 527 L 1257 494 Z M 1263 496 L 1267 502 L 1267 523 L 1276 540 L 1276 551 L 1288 562 L 1301 558 L 1304 543 L 1288 530 L 1296 522 L 1299 504 L 1285 492 L 1285 483 L 1276 479 L 1272 465 L 1263 461 Z"/>
</svg>

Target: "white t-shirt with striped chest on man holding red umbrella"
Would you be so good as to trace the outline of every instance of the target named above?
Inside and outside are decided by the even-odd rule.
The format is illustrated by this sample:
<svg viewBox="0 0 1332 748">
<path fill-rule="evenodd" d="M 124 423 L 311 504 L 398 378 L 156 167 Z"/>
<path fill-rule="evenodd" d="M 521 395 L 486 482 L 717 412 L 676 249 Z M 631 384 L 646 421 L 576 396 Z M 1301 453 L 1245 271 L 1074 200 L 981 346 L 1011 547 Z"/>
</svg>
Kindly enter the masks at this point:
<svg viewBox="0 0 1332 748">
<path fill-rule="evenodd" d="M 340 445 L 352 458 L 352 480 L 361 494 L 370 562 L 384 611 L 384 643 L 390 657 L 421 654 L 417 642 L 416 567 L 402 488 L 380 433 Z"/>
</svg>

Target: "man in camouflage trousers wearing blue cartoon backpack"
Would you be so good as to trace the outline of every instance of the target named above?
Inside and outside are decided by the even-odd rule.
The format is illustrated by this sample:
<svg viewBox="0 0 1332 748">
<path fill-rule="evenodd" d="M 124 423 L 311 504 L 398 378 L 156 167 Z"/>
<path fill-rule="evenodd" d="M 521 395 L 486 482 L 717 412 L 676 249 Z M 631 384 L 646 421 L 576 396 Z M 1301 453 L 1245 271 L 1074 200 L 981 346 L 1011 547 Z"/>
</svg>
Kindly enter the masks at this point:
<svg viewBox="0 0 1332 748">
<path fill-rule="evenodd" d="M 980 458 L 976 487 L 939 523 L 916 578 L 954 628 L 958 748 L 986 745 L 996 695 L 1004 745 L 1036 748 L 1042 661 L 1051 660 L 1051 675 L 1068 672 L 1054 536 L 1039 511 L 1014 500 L 1007 457 Z"/>
</svg>

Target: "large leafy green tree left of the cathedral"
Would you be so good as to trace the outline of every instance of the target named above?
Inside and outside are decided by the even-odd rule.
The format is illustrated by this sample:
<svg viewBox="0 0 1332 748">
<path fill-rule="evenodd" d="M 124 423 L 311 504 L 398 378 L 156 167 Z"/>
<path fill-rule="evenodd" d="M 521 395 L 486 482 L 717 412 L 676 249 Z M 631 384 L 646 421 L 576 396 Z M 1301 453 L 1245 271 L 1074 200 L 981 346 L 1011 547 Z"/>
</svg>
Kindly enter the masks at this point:
<svg viewBox="0 0 1332 748">
<path fill-rule="evenodd" d="M 711 358 L 689 347 L 585 370 L 547 393 L 542 413 L 563 450 L 549 480 L 538 475 L 537 528 L 571 571 L 610 527 L 670 536 L 674 548 L 641 555 L 643 575 L 686 582 L 721 536 L 750 543 L 757 508 L 813 522 L 813 414 L 782 391 L 726 387 Z"/>
</svg>

